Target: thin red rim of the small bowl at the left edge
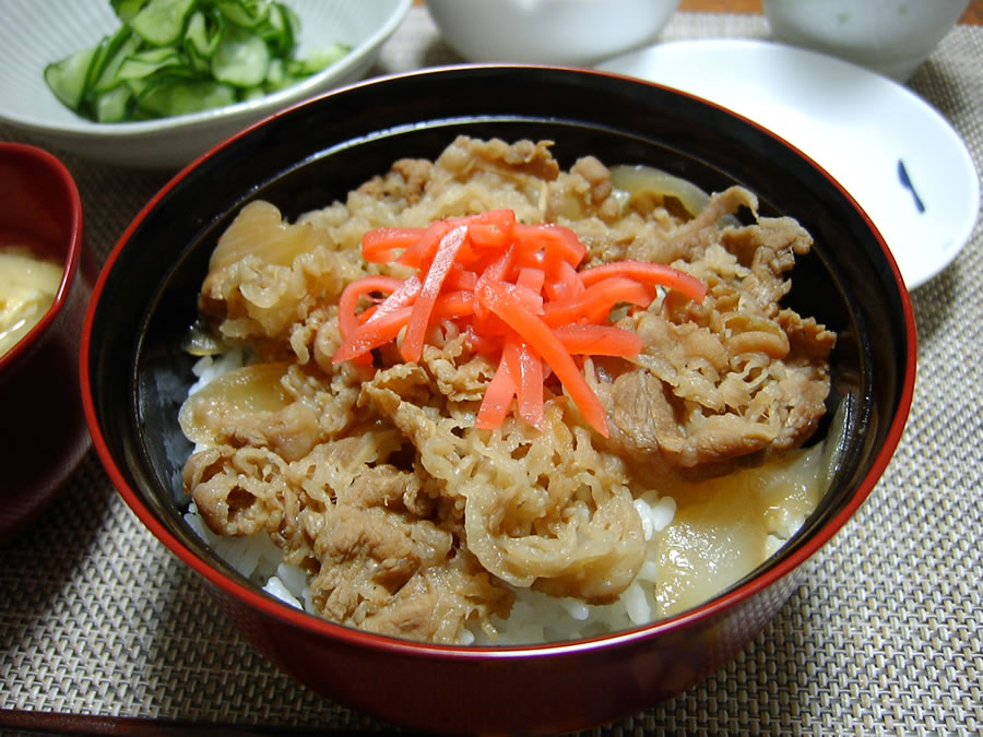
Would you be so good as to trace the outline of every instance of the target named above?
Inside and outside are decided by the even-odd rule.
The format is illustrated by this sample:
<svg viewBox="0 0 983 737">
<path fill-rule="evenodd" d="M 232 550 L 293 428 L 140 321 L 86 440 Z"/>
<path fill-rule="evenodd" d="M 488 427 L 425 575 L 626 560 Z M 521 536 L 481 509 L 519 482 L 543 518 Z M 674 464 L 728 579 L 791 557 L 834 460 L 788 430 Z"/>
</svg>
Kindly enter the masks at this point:
<svg viewBox="0 0 983 737">
<path fill-rule="evenodd" d="M 32 146 L 26 143 L 7 143 L 0 142 L 0 156 L 13 155 L 23 158 L 26 162 L 38 164 L 46 168 L 50 174 L 55 175 L 64 192 L 68 194 L 70 203 L 70 237 L 68 248 L 62 255 L 62 273 L 61 282 L 58 284 L 58 292 L 55 294 L 55 301 L 48 311 L 42 317 L 37 323 L 28 330 L 24 336 L 14 343 L 14 345 L 2 356 L 0 356 L 0 372 L 8 366 L 12 365 L 17 358 L 28 352 L 36 340 L 48 329 L 54 322 L 55 317 L 64 306 L 68 299 L 69 289 L 75 272 L 79 270 L 79 263 L 82 259 L 83 248 L 83 215 L 82 215 L 82 198 L 79 194 L 79 188 L 75 180 L 69 173 L 68 168 L 55 155 L 48 153 L 44 148 Z"/>
</svg>

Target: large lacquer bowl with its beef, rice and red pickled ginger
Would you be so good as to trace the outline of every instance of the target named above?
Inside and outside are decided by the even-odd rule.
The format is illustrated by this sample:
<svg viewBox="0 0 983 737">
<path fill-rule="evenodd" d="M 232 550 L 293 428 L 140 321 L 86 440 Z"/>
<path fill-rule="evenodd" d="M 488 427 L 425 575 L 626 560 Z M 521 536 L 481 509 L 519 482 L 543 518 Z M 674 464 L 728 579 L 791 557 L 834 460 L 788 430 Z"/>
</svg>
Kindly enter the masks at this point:
<svg viewBox="0 0 983 737">
<path fill-rule="evenodd" d="M 178 175 L 104 268 L 81 372 L 120 494 L 287 673 L 418 728 L 564 732 L 763 628 L 884 472 L 914 358 L 884 241 L 768 131 L 614 75 L 462 67 Z M 770 389 L 720 399 L 738 379 Z"/>
</svg>

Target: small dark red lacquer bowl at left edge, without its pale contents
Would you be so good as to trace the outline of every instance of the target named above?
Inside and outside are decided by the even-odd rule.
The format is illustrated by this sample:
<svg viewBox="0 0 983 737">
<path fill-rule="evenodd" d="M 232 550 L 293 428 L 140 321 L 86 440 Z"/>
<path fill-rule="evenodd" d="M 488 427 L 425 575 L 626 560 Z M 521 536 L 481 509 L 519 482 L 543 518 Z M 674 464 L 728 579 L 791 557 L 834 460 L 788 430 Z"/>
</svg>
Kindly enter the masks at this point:
<svg viewBox="0 0 983 737">
<path fill-rule="evenodd" d="M 76 368 L 93 281 L 82 201 L 69 170 L 42 148 L 0 143 L 0 249 L 61 266 L 51 306 L 0 355 L 2 542 L 44 510 L 91 447 Z"/>
</svg>

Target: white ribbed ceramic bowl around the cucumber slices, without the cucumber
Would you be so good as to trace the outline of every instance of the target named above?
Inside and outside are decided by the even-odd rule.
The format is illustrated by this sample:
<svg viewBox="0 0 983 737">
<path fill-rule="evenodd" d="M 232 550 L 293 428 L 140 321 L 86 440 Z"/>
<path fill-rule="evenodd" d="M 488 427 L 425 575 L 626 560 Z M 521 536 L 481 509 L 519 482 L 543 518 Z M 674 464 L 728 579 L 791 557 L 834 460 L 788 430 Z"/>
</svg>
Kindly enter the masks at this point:
<svg viewBox="0 0 983 737">
<path fill-rule="evenodd" d="M 0 120 L 36 141 L 111 164 L 179 168 L 261 118 L 363 76 L 413 0 L 287 0 L 300 19 L 298 55 L 332 41 L 352 51 L 337 63 L 258 100 L 127 123 L 96 123 L 64 107 L 48 90 L 45 66 L 94 46 L 119 27 L 108 0 L 3 0 Z"/>
</svg>

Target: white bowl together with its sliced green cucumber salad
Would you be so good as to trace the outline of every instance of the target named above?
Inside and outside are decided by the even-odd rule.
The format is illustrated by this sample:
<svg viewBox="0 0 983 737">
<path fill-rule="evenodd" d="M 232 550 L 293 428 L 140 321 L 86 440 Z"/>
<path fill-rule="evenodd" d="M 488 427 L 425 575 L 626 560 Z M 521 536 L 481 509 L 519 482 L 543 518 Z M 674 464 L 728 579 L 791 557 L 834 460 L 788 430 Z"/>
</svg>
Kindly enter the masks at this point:
<svg viewBox="0 0 983 737">
<path fill-rule="evenodd" d="M 185 9 L 191 7 L 191 3 L 173 2 L 149 5 L 152 29 L 159 34 L 173 25 L 162 23 L 161 19 L 173 20 L 174 13 L 178 12 L 177 7 L 181 4 Z M 212 17 L 208 26 L 210 28 L 213 23 L 214 27 L 226 27 L 222 12 L 239 11 L 248 16 L 252 10 L 269 11 L 269 3 L 217 4 L 227 10 L 212 9 L 215 10 L 214 13 L 209 11 Z M 94 82 L 90 78 L 102 79 L 102 71 L 117 69 L 116 64 L 110 63 L 112 55 L 103 51 L 115 49 L 116 58 L 120 60 L 133 51 L 130 41 L 122 40 L 130 24 L 123 23 L 121 16 L 117 15 L 117 7 L 125 11 L 126 16 L 126 13 L 134 12 L 137 3 L 111 4 L 108 0 L 74 0 L 70 3 L 9 0 L 3 4 L 4 23 L 0 25 L 0 45 L 10 55 L 4 68 L 0 120 L 46 146 L 94 162 L 176 171 L 245 126 L 365 76 L 379 58 L 382 45 L 399 28 L 412 4 L 412 0 L 293 0 L 287 5 L 295 15 L 294 21 L 299 31 L 293 27 L 289 41 L 284 40 L 282 44 L 296 43 L 293 56 L 297 60 L 316 58 L 335 45 L 341 45 L 346 51 L 332 63 L 318 71 L 308 70 L 310 73 L 291 84 L 277 84 L 277 88 L 269 94 L 256 95 L 241 91 L 241 99 L 233 99 L 230 87 L 227 86 L 220 87 L 221 94 L 211 95 L 202 92 L 204 87 L 193 87 L 197 92 L 190 95 L 178 90 L 162 94 L 162 102 L 165 97 L 171 102 L 156 109 L 152 117 L 130 115 L 117 122 L 99 122 L 94 117 L 76 111 L 81 100 L 62 103 L 46 81 L 46 70 L 64 66 L 66 70 L 59 73 L 60 81 L 56 87 L 70 87 L 60 90 L 67 97 L 83 94 L 84 91 L 84 97 L 93 98 L 91 102 L 95 105 L 95 95 L 90 91 Z M 259 14 L 262 15 L 262 12 Z M 277 27 L 282 26 L 280 24 Z M 194 35 L 191 21 L 187 24 L 186 33 Z M 137 36 L 135 32 L 133 36 Z M 212 43 L 215 37 L 209 38 L 209 43 Z M 168 45 L 170 43 L 167 41 Z M 268 36 L 267 43 L 274 48 L 274 39 Z M 79 55 L 97 48 L 100 54 L 88 57 L 91 63 L 83 66 L 79 62 Z M 254 58 L 249 52 L 248 41 L 232 48 L 233 63 L 254 66 L 248 63 Z M 252 48 L 254 51 L 256 47 Z M 158 46 L 141 54 L 161 54 L 163 57 L 167 50 L 166 46 Z M 260 57 L 262 56 L 261 54 Z M 281 50 L 276 56 L 285 54 Z M 84 56 L 82 58 L 85 59 Z M 180 64 L 171 67 L 169 61 L 164 63 L 162 58 L 152 60 L 150 70 L 161 67 L 153 75 L 155 79 L 176 82 L 198 73 L 185 67 L 186 55 L 175 54 L 167 58 L 171 61 L 179 60 Z M 142 94 L 149 94 L 151 85 L 141 85 L 141 82 L 150 72 L 139 70 L 142 63 L 139 59 L 134 63 L 138 64 L 137 76 L 140 79 L 120 84 L 117 83 L 123 80 L 122 76 L 112 79 L 114 93 L 127 93 L 127 96 L 108 95 L 107 100 L 111 100 L 114 96 L 117 102 L 130 99 L 128 90 L 131 87 L 134 91 L 142 88 Z M 271 70 L 277 67 L 270 64 Z M 81 76 L 85 80 L 84 84 L 80 81 L 80 72 L 83 71 L 84 75 Z M 235 75 L 235 70 L 233 72 Z M 272 71 L 270 75 L 272 76 Z M 165 84 L 162 90 L 166 92 L 167 87 Z M 205 104 L 206 100 L 209 104 Z M 130 104 L 112 105 L 107 102 L 106 107 L 121 115 L 122 109 Z M 157 117 L 165 111 L 166 116 Z M 104 116 L 103 119 L 117 117 Z"/>
</svg>

